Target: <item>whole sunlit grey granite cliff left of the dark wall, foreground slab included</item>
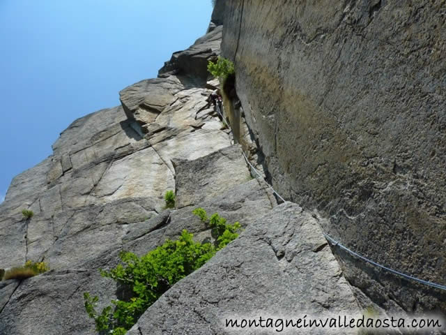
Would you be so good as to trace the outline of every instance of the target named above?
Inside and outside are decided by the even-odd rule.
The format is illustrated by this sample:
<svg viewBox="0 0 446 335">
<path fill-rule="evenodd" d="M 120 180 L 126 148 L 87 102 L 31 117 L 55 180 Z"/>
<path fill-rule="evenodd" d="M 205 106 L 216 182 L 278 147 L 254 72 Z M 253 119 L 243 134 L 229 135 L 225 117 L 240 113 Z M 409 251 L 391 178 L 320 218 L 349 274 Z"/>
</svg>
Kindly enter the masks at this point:
<svg viewBox="0 0 446 335">
<path fill-rule="evenodd" d="M 121 106 L 74 121 L 52 156 L 13 179 L 0 204 L 0 267 L 44 260 L 51 270 L 0 282 L 0 334 L 94 334 L 83 293 L 98 295 L 98 308 L 123 295 L 99 269 L 116 266 L 120 251 L 144 255 L 183 229 L 209 239 L 196 207 L 245 231 L 129 334 L 222 334 L 229 314 L 362 311 L 314 214 L 277 205 L 208 106 L 215 82 L 206 64 L 220 54 L 221 19 L 215 12 L 208 34 L 176 52 L 158 78 L 123 89 Z M 167 190 L 175 209 L 164 209 Z"/>
</svg>

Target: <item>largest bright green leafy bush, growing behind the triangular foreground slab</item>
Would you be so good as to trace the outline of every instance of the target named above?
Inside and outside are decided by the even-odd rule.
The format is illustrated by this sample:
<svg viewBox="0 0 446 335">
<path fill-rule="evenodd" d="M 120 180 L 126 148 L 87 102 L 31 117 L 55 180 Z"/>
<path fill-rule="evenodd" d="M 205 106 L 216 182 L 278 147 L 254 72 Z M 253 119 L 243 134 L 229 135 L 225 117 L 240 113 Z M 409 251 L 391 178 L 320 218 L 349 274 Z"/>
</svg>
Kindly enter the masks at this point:
<svg viewBox="0 0 446 335">
<path fill-rule="evenodd" d="M 208 218 L 202 208 L 192 212 L 211 228 L 215 244 L 196 242 L 192 239 L 193 234 L 183 230 L 177 240 L 168 239 L 141 258 L 134 253 L 121 252 L 123 264 L 109 271 L 100 270 L 102 276 L 112 278 L 132 291 L 132 297 L 112 301 L 112 305 L 103 308 L 101 313 L 96 311 L 98 297 L 84 293 L 86 313 L 95 320 L 96 330 L 100 334 L 125 334 L 172 285 L 199 269 L 217 251 L 238 237 L 240 223 L 227 224 L 226 219 L 217 213 Z"/>
</svg>

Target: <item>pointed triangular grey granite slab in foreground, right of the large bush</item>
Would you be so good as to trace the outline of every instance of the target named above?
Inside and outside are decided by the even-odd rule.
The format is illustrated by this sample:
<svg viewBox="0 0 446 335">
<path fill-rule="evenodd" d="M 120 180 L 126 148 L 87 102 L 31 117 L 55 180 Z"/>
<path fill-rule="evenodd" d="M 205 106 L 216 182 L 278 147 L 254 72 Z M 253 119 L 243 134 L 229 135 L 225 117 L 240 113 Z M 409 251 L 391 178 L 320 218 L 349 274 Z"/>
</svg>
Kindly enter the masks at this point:
<svg viewBox="0 0 446 335">
<path fill-rule="evenodd" d="M 174 285 L 128 334 L 277 334 L 279 326 L 231 329 L 225 320 L 360 312 L 316 220 L 286 202 Z M 343 334 L 357 334 L 350 330 Z M 314 328 L 305 334 L 324 333 Z"/>
</svg>

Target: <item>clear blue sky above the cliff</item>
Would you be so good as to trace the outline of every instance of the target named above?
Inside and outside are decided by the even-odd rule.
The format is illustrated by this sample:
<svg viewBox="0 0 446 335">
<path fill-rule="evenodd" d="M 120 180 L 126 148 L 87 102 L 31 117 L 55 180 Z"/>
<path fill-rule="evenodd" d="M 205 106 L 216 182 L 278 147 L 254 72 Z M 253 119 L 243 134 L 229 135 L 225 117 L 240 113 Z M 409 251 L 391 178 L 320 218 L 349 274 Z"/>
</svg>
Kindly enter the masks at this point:
<svg viewBox="0 0 446 335">
<path fill-rule="evenodd" d="M 202 36 L 210 0 L 0 0 L 0 202 L 72 121 Z"/>
</svg>

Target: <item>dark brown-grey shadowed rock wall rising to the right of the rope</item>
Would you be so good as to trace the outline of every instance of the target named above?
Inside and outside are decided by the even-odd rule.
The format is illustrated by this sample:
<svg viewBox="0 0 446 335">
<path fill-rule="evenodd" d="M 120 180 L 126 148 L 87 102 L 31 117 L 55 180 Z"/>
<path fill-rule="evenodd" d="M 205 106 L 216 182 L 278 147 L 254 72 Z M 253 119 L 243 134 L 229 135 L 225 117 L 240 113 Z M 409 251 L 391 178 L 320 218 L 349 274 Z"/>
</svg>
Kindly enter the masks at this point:
<svg viewBox="0 0 446 335">
<path fill-rule="evenodd" d="M 443 284 L 445 17 L 440 0 L 229 0 L 222 41 L 275 188 L 346 246 Z M 446 310 L 436 290 L 346 261 L 380 304 Z"/>
</svg>

